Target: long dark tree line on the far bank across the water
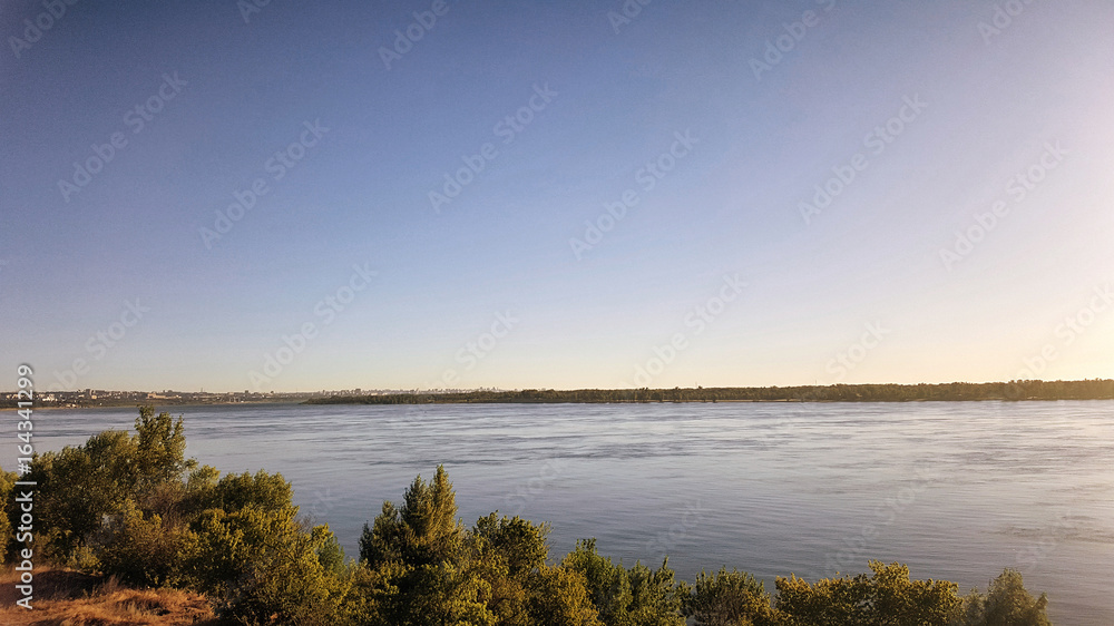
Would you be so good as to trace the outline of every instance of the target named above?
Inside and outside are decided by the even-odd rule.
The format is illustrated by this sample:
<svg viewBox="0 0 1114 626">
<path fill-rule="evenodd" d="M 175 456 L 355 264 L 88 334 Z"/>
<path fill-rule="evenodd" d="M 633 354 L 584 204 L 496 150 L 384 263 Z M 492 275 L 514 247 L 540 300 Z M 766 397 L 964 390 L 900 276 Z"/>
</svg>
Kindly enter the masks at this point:
<svg viewBox="0 0 1114 626">
<path fill-rule="evenodd" d="M 306 404 L 607 403 L 607 402 L 916 402 L 978 400 L 1114 400 L 1114 380 L 832 384 L 673 389 L 525 389 L 328 395 Z"/>
</svg>

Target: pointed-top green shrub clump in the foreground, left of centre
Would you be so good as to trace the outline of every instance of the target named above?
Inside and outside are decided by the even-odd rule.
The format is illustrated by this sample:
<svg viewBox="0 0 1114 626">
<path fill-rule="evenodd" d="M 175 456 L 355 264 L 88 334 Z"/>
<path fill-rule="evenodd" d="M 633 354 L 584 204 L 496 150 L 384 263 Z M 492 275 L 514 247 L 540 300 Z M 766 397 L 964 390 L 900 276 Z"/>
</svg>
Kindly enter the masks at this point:
<svg viewBox="0 0 1114 626">
<path fill-rule="evenodd" d="M 497 513 L 466 529 L 439 467 L 364 525 L 344 610 L 368 625 L 598 625 L 584 577 L 547 565 L 548 532 Z"/>
</svg>

